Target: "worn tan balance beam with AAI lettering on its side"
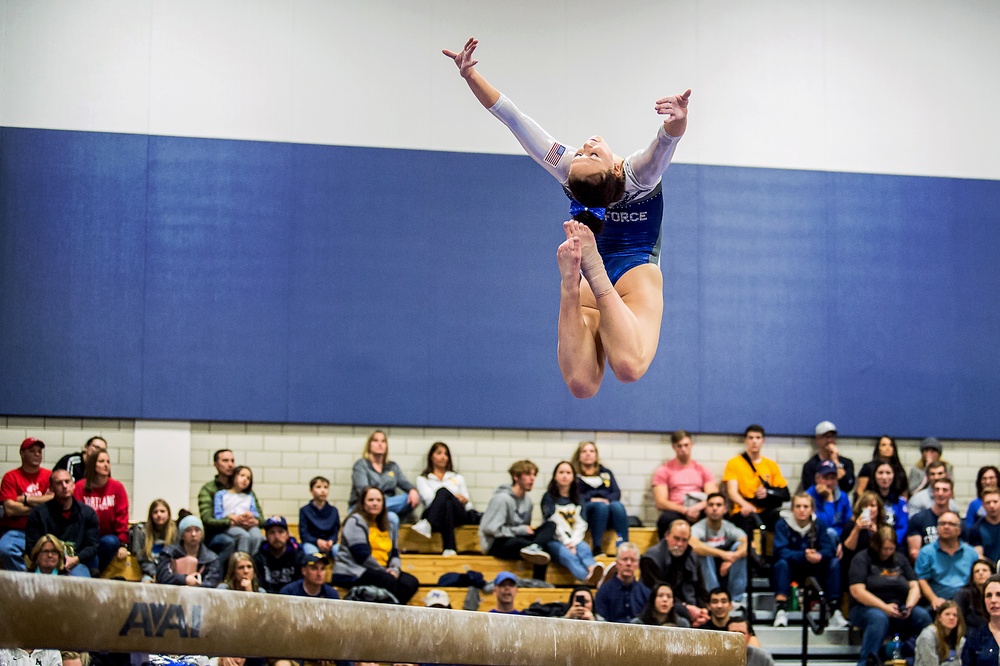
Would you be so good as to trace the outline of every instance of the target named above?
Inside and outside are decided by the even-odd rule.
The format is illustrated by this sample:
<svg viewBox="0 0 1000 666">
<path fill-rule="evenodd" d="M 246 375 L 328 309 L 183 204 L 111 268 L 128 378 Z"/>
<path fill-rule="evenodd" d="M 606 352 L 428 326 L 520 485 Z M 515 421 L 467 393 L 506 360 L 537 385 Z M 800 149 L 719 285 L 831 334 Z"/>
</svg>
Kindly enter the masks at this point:
<svg viewBox="0 0 1000 666">
<path fill-rule="evenodd" d="M 469 666 L 744 666 L 740 634 L 0 572 L 0 647 Z"/>
</svg>

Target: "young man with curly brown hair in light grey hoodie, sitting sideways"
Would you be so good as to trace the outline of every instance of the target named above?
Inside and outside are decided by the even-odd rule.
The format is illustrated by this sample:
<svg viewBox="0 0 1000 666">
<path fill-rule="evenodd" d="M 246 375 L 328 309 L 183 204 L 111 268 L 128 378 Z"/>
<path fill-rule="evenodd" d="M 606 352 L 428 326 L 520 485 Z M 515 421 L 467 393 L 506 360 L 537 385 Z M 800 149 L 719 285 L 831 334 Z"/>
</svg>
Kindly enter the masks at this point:
<svg viewBox="0 0 1000 666">
<path fill-rule="evenodd" d="M 487 555 L 501 560 L 526 560 L 534 565 L 533 576 L 545 580 L 551 557 L 543 546 L 555 537 L 555 524 L 542 523 L 536 530 L 531 522 L 531 497 L 538 465 L 518 460 L 510 469 L 510 485 L 496 489 L 479 523 L 479 547 Z"/>
</svg>

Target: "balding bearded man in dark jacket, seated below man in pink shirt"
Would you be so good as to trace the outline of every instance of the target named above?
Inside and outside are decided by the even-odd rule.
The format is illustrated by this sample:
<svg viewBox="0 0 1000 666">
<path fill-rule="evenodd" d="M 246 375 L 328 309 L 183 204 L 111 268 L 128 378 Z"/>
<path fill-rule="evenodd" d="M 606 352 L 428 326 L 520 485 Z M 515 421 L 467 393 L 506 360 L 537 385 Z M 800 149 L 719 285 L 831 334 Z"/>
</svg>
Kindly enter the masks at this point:
<svg viewBox="0 0 1000 666">
<path fill-rule="evenodd" d="M 708 588 L 690 540 L 691 525 L 683 519 L 675 520 L 663 539 L 642 554 L 639 568 L 642 582 L 649 589 L 661 582 L 670 585 L 687 608 L 691 626 L 700 627 L 708 621 Z"/>
</svg>

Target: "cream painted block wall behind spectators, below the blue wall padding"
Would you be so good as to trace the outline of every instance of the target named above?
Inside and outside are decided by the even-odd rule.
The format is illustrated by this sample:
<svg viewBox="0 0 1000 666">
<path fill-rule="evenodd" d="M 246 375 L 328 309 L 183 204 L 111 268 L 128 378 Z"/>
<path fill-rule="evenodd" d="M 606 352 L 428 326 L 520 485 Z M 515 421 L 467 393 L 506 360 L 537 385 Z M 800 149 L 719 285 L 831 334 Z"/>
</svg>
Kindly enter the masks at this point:
<svg viewBox="0 0 1000 666">
<path fill-rule="evenodd" d="M 766 427 L 766 424 L 764 424 Z M 82 448 L 93 435 L 108 440 L 112 474 L 132 493 L 134 478 L 134 421 L 0 417 L 0 473 L 20 465 L 18 445 L 25 437 L 45 441 L 45 466 L 51 467 L 62 455 Z M 212 454 L 229 448 L 239 464 L 254 471 L 254 490 L 266 513 L 298 519 L 298 508 L 309 499 L 308 482 L 322 475 L 333 484 L 331 500 L 343 513 L 351 484 L 351 465 L 371 428 L 367 426 L 326 426 L 259 423 L 191 423 L 191 491 L 194 510 L 198 489 L 215 473 Z M 456 469 L 462 473 L 473 504 L 482 510 L 494 489 L 509 480 L 507 468 L 522 458 L 533 460 L 541 469 L 532 497 L 537 505 L 555 464 L 569 459 L 578 442 L 597 442 L 602 462 L 614 471 L 622 487 L 623 502 L 629 513 L 644 523 L 655 521 L 650 481 L 653 470 L 673 456 L 668 434 L 623 432 L 576 432 L 544 430 L 489 430 L 448 428 L 386 428 L 390 458 L 411 481 L 423 469 L 427 451 L 435 441 L 451 447 Z M 841 438 L 840 446 L 855 466 L 871 457 L 874 441 L 869 438 Z M 904 466 L 917 459 L 917 440 L 899 440 Z M 981 465 L 1000 465 L 1000 442 L 944 441 L 945 459 L 955 466 L 955 492 L 963 506 L 975 493 L 976 471 Z M 742 452 L 739 434 L 695 435 L 695 459 L 721 478 L 729 458 Z M 774 458 L 789 479 L 798 482 L 802 464 L 813 454 L 811 437 L 769 436 L 765 455 Z M 180 507 L 175 507 L 180 508 Z M 141 520 L 147 507 L 132 507 L 133 519 Z M 536 519 L 538 516 L 536 515 Z"/>
</svg>

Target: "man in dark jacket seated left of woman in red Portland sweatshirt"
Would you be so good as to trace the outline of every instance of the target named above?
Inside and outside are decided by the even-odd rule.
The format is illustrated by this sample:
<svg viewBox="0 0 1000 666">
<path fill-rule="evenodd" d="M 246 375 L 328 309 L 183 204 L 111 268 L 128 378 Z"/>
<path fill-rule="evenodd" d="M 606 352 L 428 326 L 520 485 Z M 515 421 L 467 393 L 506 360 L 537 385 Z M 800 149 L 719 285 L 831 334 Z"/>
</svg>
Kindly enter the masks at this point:
<svg viewBox="0 0 1000 666">
<path fill-rule="evenodd" d="M 24 527 L 25 546 L 30 553 L 45 535 L 63 542 L 66 559 L 63 566 L 72 576 L 90 577 L 97 569 L 97 514 L 73 497 L 73 477 L 64 469 L 56 470 L 49 479 L 52 499 L 39 504 L 28 514 Z"/>
</svg>

